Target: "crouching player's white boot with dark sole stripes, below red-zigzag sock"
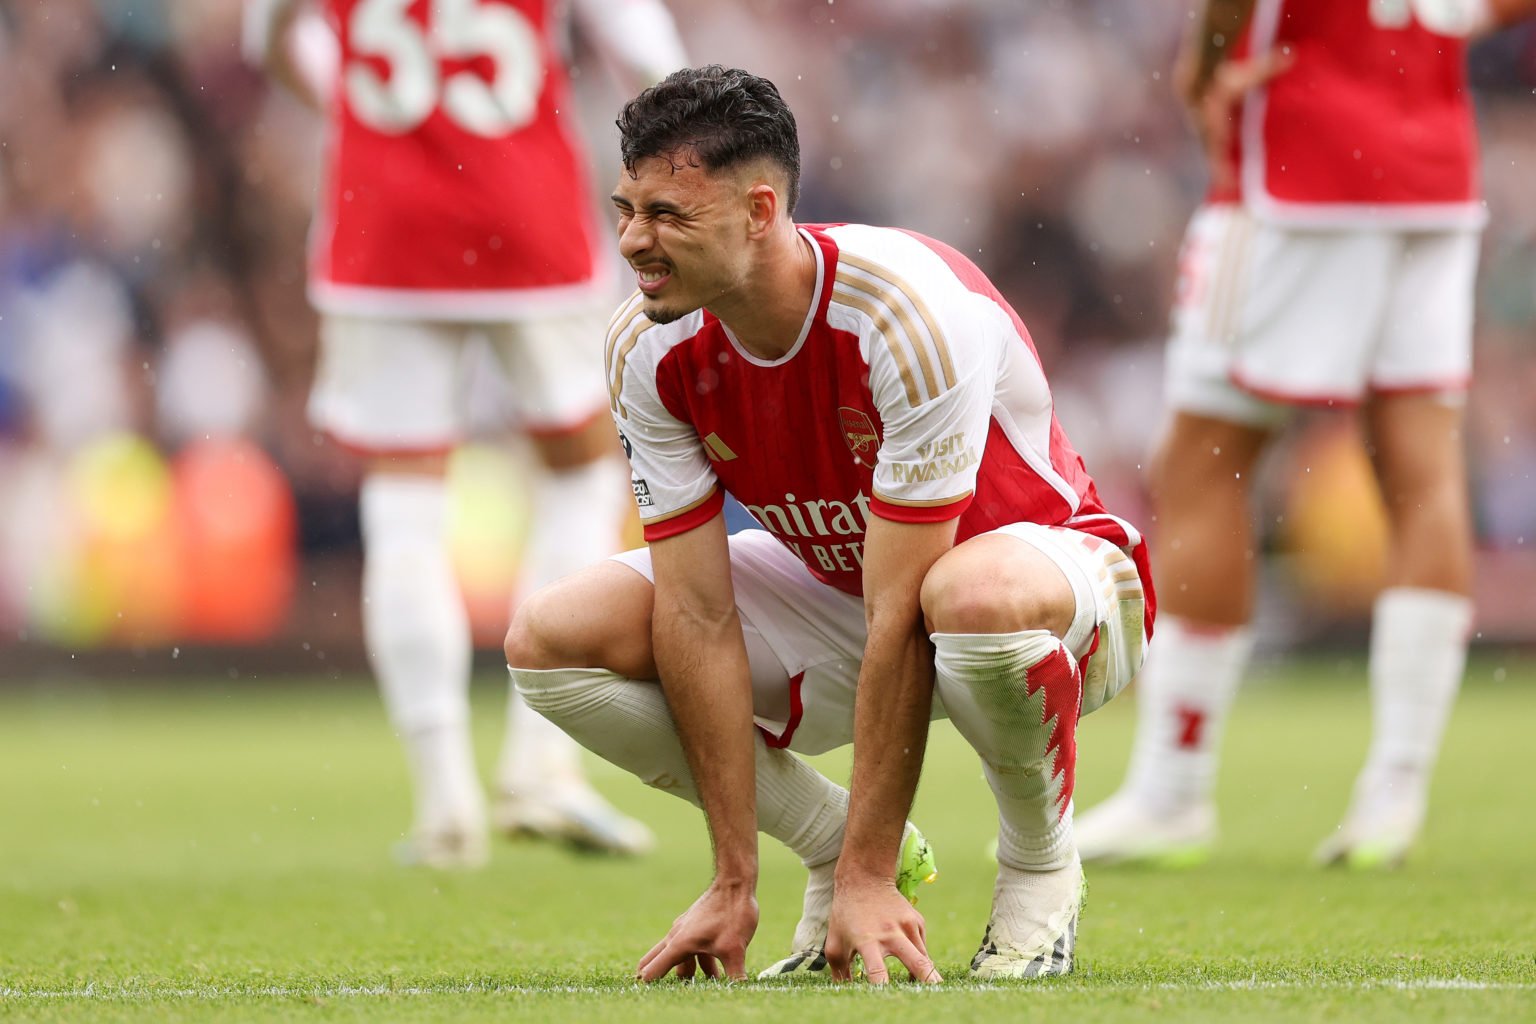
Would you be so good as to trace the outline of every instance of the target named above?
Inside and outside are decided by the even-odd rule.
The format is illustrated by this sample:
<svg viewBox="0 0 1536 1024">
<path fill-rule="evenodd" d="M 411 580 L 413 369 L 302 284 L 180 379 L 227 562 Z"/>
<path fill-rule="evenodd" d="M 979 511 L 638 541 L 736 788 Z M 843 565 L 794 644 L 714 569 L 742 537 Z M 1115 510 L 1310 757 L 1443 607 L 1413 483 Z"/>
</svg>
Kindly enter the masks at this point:
<svg viewBox="0 0 1536 1024">
<path fill-rule="evenodd" d="M 1077 857 L 1057 870 L 998 864 L 992 917 L 971 958 L 971 975 L 998 981 L 1072 973 L 1077 921 L 1086 903 L 1087 880 Z"/>
</svg>

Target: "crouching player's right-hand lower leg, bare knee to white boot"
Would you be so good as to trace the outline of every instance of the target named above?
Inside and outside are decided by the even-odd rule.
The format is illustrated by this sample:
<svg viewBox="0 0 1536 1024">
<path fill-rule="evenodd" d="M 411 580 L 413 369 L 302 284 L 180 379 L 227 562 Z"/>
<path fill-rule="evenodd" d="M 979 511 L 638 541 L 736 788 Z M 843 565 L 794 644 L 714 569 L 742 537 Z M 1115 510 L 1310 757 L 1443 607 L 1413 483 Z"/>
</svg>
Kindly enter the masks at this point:
<svg viewBox="0 0 1536 1024">
<path fill-rule="evenodd" d="M 1072 970 L 1086 895 L 1072 841 L 1083 677 L 1063 642 L 1075 611 L 1063 570 L 1012 536 L 955 547 L 923 582 L 935 694 L 997 797 L 997 884 L 971 961 L 980 978 Z"/>
</svg>

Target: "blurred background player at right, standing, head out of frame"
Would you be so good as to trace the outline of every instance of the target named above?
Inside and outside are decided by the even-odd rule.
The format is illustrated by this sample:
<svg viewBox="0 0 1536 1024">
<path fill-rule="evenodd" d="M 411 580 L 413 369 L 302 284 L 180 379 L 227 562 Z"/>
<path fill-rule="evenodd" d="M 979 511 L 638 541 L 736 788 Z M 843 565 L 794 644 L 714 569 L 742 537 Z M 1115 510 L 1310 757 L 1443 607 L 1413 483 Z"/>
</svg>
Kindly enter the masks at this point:
<svg viewBox="0 0 1536 1024">
<path fill-rule="evenodd" d="M 1464 456 L 1484 207 L 1465 40 L 1530 0 L 1209 0 L 1178 84 L 1212 186 L 1189 224 L 1152 470 L 1163 619 L 1084 860 L 1198 860 L 1252 649 L 1253 468 L 1296 407 L 1359 407 L 1390 528 L 1372 743 L 1318 858 L 1396 864 L 1471 633 Z"/>
</svg>

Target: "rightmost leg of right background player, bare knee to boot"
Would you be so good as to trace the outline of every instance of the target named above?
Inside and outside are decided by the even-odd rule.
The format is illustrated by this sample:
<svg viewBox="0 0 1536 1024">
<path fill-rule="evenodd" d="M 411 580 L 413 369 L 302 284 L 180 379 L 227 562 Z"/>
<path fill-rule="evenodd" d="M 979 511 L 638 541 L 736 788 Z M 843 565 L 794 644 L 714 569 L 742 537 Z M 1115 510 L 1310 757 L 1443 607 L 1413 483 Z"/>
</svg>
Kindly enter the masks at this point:
<svg viewBox="0 0 1536 1024">
<path fill-rule="evenodd" d="M 1401 863 L 1424 823 L 1428 781 L 1467 662 L 1471 514 L 1462 408 L 1433 395 L 1376 396 L 1372 464 L 1392 528 L 1392 568 L 1372 617 L 1372 742 L 1326 863 Z"/>
</svg>

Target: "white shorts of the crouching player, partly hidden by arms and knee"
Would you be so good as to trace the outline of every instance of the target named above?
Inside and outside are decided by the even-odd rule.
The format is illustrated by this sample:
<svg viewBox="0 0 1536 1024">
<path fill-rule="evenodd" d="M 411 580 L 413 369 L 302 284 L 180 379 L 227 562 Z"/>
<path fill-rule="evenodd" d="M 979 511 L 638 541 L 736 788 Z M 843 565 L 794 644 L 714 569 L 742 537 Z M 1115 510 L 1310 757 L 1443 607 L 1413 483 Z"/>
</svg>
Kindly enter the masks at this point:
<svg viewBox="0 0 1536 1024">
<path fill-rule="evenodd" d="M 1077 611 L 1064 637 L 1077 659 L 1087 659 L 1084 680 L 1095 700 L 1083 714 L 1124 689 L 1141 666 L 1144 648 L 1140 580 L 1123 579 L 1129 559 L 1107 540 L 1063 527 L 1014 524 L 994 533 L 1018 537 L 1051 557 L 1072 583 Z M 763 530 L 730 539 L 731 583 L 746 637 L 753 676 L 753 714 L 770 746 L 822 754 L 854 738 L 854 692 L 865 649 L 862 597 L 822 583 L 805 563 Z M 650 550 L 613 556 L 645 579 Z M 945 717 L 934 697 L 934 717 Z"/>
</svg>

